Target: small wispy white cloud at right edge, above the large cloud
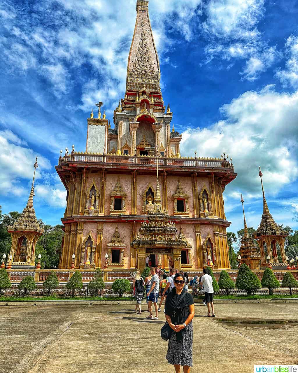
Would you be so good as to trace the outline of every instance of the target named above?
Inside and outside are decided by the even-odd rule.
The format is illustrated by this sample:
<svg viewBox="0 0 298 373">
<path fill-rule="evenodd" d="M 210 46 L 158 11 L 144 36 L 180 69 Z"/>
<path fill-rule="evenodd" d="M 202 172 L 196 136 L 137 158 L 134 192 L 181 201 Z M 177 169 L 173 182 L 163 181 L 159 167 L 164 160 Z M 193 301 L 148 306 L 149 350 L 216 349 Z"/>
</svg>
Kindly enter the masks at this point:
<svg viewBox="0 0 298 373">
<path fill-rule="evenodd" d="M 285 69 L 280 69 L 276 76 L 284 87 L 292 86 L 296 89 L 298 88 L 298 36 L 289 36 L 285 48 L 288 60 Z"/>
</svg>

